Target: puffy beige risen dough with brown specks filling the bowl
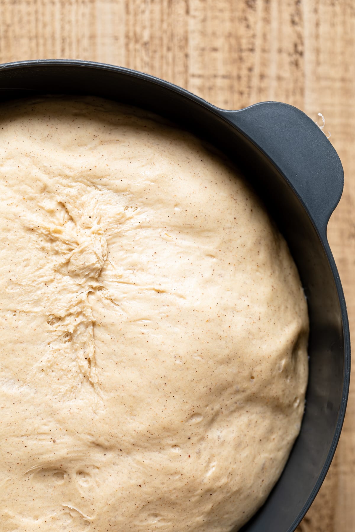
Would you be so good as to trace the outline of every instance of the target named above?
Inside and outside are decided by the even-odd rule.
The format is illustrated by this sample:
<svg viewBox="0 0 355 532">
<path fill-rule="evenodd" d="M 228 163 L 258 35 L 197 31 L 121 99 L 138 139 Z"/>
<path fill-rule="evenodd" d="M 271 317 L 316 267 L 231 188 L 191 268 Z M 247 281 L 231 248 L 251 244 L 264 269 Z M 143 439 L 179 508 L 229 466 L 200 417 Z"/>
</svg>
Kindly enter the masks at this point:
<svg viewBox="0 0 355 532">
<path fill-rule="evenodd" d="M 99 98 L 0 110 L 0 530 L 229 532 L 299 433 L 307 304 L 199 140 Z"/>
</svg>

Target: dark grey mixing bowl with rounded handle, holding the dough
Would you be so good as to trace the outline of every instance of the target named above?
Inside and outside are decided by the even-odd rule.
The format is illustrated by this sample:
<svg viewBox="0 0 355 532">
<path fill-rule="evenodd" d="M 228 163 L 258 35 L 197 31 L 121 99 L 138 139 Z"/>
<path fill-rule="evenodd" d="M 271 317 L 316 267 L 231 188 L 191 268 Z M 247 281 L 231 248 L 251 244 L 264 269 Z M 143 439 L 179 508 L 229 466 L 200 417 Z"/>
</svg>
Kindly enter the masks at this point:
<svg viewBox="0 0 355 532">
<path fill-rule="evenodd" d="M 0 66 L 3 101 L 51 93 L 132 104 L 207 139 L 242 169 L 285 236 L 308 300 L 307 405 L 282 476 L 243 532 L 293 531 L 333 458 L 349 390 L 348 317 L 326 236 L 343 189 L 339 157 L 306 114 L 283 103 L 225 111 L 166 81 L 98 63 L 50 60 Z"/>
</svg>

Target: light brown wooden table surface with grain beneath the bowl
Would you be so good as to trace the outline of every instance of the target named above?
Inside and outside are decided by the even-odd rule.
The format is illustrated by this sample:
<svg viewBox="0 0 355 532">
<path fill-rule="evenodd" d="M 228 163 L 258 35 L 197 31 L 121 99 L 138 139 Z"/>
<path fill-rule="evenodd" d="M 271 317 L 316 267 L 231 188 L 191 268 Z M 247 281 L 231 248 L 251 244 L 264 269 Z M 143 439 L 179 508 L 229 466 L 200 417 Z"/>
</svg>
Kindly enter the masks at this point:
<svg viewBox="0 0 355 532">
<path fill-rule="evenodd" d="M 54 57 L 142 70 L 226 109 L 277 100 L 313 120 L 323 113 L 345 171 L 328 236 L 352 329 L 353 0 L 0 0 L 0 63 Z M 299 532 L 354 532 L 354 492 L 352 386 L 335 459 Z"/>
</svg>

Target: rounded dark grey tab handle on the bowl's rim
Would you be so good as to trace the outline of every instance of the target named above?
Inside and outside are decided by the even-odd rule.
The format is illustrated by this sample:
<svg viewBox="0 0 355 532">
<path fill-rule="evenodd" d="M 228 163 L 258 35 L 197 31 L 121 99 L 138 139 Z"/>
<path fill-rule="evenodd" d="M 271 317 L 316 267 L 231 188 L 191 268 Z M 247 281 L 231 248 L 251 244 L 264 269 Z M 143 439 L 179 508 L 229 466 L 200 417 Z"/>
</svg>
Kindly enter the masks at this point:
<svg viewBox="0 0 355 532">
<path fill-rule="evenodd" d="M 280 170 L 325 236 L 343 192 L 344 172 L 339 156 L 317 124 L 296 107 L 279 102 L 262 102 L 222 114 Z"/>
</svg>

